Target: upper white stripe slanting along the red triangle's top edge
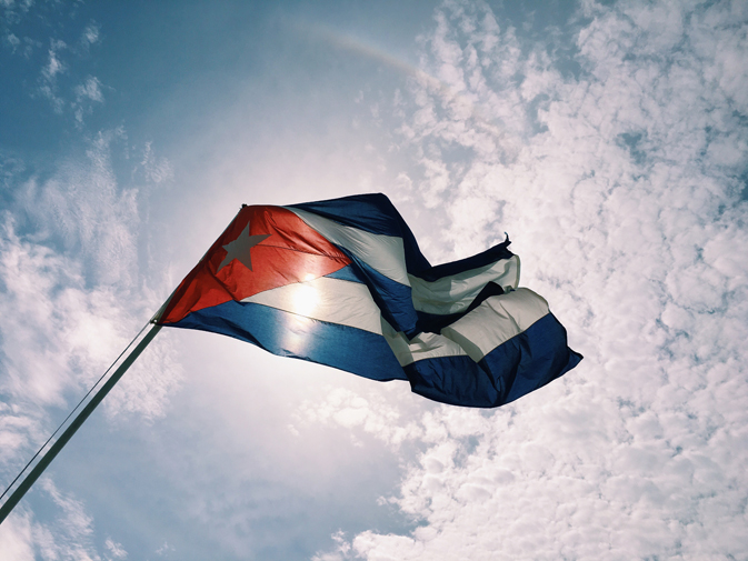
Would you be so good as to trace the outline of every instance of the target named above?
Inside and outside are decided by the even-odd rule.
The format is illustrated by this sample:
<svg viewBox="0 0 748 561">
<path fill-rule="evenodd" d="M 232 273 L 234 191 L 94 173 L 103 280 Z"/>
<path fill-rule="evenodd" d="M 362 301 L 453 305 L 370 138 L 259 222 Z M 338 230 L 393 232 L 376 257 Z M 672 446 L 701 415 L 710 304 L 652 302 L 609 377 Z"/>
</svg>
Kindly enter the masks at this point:
<svg viewBox="0 0 748 561">
<path fill-rule="evenodd" d="M 410 285 L 402 238 L 369 233 L 339 224 L 312 212 L 285 207 L 330 242 L 347 249 L 377 272 L 400 284 Z"/>
</svg>

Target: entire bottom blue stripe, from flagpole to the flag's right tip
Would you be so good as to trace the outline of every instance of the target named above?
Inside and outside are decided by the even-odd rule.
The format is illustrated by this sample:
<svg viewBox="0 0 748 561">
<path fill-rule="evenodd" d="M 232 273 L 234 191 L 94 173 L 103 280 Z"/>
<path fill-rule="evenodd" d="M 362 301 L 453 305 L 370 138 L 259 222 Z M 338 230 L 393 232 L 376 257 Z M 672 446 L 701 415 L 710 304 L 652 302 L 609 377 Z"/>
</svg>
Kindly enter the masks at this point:
<svg viewBox="0 0 748 561">
<path fill-rule="evenodd" d="M 463 407 L 509 403 L 559 378 L 581 360 L 567 347 L 566 330 L 550 313 L 493 349 L 479 363 L 466 355 L 441 357 L 405 368 L 381 335 L 256 303 L 226 302 L 192 312 L 170 325 L 221 333 L 273 354 L 326 364 L 371 380 L 408 379 L 413 392 Z"/>
</svg>

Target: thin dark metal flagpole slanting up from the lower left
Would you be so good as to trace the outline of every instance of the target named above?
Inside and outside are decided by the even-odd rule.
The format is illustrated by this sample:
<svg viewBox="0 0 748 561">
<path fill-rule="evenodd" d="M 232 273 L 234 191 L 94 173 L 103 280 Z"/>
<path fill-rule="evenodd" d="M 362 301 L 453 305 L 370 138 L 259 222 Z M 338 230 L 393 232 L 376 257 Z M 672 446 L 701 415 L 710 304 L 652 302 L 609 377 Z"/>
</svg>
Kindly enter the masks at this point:
<svg viewBox="0 0 748 561">
<path fill-rule="evenodd" d="M 168 302 L 168 300 L 167 300 Z M 166 305 L 166 304 L 164 304 Z M 161 310 L 159 310 L 160 312 Z M 158 317 L 159 313 L 154 315 Z M 151 320 L 151 323 L 153 320 Z M 86 419 L 89 418 L 89 415 L 93 412 L 93 410 L 101 403 L 101 401 L 107 397 L 107 393 L 114 387 L 114 384 L 119 381 L 120 378 L 127 372 L 127 370 L 132 365 L 132 363 L 136 361 L 138 357 L 140 357 L 140 353 L 148 347 L 148 344 L 153 340 L 156 334 L 161 330 L 161 325 L 158 325 L 153 323 L 151 327 L 150 331 L 146 333 L 146 337 L 142 338 L 142 340 L 138 343 L 138 345 L 132 349 L 132 352 L 122 361 L 120 367 L 114 371 L 114 373 L 104 382 L 104 384 L 99 389 L 99 391 L 91 398 L 91 401 L 89 401 L 86 407 L 78 413 L 78 415 L 72 420 L 70 425 L 64 430 L 64 432 L 60 435 L 60 438 L 51 445 L 51 448 L 44 453 L 44 455 L 41 457 L 41 460 L 39 460 L 39 463 L 33 467 L 33 469 L 29 472 L 29 474 L 21 481 L 21 483 L 18 485 L 16 491 L 8 498 L 8 500 L 4 502 L 2 507 L 0 507 L 0 524 L 2 524 L 3 520 L 10 514 L 10 512 L 13 510 L 16 504 L 23 498 L 26 492 L 31 488 L 31 485 L 39 479 L 39 475 L 42 474 L 42 472 L 47 469 L 47 467 L 51 463 L 51 461 L 54 459 L 54 457 L 62 450 L 62 448 L 68 443 L 68 441 L 72 438 L 72 435 L 76 433 L 78 429 L 80 429 L 81 424 L 86 421 Z"/>
</svg>

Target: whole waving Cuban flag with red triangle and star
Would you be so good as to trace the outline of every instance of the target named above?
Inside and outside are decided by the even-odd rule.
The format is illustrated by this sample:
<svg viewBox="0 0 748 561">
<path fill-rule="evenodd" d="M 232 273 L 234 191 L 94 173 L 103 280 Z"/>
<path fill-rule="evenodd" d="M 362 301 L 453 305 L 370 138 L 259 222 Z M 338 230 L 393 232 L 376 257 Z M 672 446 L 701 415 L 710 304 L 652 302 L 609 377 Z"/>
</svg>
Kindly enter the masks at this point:
<svg viewBox="0 0 748 561">
<path fill-rule="evenodd" d="M 245 206 L 156 322 L 498 407 L 581 360 L 508 246 L 432 267 L 383 194 Z"/>
</svg>

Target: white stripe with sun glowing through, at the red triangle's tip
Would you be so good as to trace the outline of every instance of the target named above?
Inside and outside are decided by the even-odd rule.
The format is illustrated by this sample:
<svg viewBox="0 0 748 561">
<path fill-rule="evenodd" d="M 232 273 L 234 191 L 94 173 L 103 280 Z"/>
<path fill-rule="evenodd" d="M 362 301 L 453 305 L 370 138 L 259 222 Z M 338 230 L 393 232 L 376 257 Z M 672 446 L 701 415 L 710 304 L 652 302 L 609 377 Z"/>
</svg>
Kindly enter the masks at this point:
<svg viewBox="0 0 748 561">
<path fill-rule="evenodd" d="M 360 282 L 320 277 L 266 290 L 245 298 L 242 302 L 269 305 L 377 334 L 382 332 L 379 308 L 371 299 L 369 289 Z"/>
</svg>

